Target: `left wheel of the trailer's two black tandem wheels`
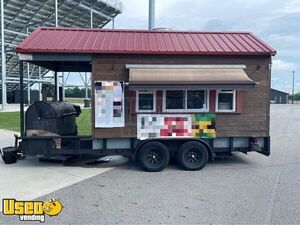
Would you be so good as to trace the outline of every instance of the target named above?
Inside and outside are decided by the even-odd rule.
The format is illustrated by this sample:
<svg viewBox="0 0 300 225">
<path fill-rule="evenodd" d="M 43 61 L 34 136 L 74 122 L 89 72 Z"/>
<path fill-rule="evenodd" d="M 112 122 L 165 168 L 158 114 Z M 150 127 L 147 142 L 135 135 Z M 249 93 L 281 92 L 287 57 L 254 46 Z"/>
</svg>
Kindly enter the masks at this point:
<svg viewBox="0 0 300 225">
<path fill-rule="evenodd" d="M 168 165 L 170 153 L 164 144 L 158 141 L 151 141 L 144 144 L 139 150 L 138 161 L 144 170 L 159 172 Z"/>
</svg>

